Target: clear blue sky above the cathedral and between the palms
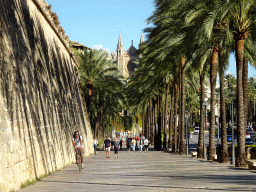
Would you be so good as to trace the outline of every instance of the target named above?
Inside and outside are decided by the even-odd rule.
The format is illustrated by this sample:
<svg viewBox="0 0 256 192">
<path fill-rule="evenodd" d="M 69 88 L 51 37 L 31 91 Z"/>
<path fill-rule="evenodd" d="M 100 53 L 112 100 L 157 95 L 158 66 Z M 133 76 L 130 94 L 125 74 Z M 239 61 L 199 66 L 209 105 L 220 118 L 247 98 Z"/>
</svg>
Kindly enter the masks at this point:
<svg viewBox="0 0 256 192">
<path fill-rule="evenodd" d="M 132 40 L 133 46 L 138 48 L 141 33 L 150 27 L 146 20 L 155 10 L 154 0 L 46 1 L 52 5 L 71 41 L 108 52 L 116 51 L 119 34 L 125 50 L 131 46 Z M 230 56 L 226 73 L 236 76 L 234 54 Z M 249 66 L 248 74 L 255 78 L 256 69 Z"/>
</svg>

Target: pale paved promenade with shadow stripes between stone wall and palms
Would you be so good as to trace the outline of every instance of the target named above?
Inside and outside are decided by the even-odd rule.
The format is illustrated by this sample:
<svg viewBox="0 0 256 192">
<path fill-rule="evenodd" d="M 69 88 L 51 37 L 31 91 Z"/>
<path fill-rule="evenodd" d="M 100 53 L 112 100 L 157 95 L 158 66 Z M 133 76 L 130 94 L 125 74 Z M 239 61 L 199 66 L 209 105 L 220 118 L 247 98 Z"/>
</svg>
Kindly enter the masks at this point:
<svg viewBox="0 0 256 192">
<path fill-rule="evenodd" d="M 256 171 L 150 149 L 148 153 L 104 151 L 73 164 L 20 192 L 34 191 L 256 191 Z"/>
</svg>

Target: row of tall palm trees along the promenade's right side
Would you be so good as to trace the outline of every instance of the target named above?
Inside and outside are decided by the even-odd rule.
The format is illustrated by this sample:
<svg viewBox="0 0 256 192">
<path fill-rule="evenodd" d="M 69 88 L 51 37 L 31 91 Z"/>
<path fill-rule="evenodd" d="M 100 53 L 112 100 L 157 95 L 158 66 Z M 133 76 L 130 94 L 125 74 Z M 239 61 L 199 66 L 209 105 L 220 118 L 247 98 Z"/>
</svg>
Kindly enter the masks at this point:
<svg viewBox="0 0 256 192">
<path fill-rule="evenodd" d="M 154 135 L 159 148 L 161 128 L 167 148 L 166 114 L 169 130 L 174 130 L 175 151 L 185 153 L 184 122 L 186 95 L 201 93 L 200 111 L 204 110 L 205 78 L 209 76 L 210 127 L 208 159 L 215 147 L 216 79 L 220 83 L 220 121 L 222 122 L 221 162 L 228 160 L 226 142 L 225 77 L 229 55 L 236 58 L 236 166 L 245 166 L 245 127 L 247 122 L 248 61 L 255 65 L 256 3 L 254 0 L 155 0 L 156 10 L 148 19 L 147 41 L 140 46 L 138 69 L 128 83 L 129 107 L 133 113 L 144 112 L 146 134 Z M 171 97 L 171 98 L 169 98 Z M 189 97 L 187 97 L 189 98 Z M 165 102 L 161 102 L 165 100 Z M 161 104 L 162 103 L 162 104 Z M 189 101 L 189 105 L 191 102 Z M 163 107 L 161 107 L 163 105 Z M 153 110 L 151 110 L 153 109 Z M 154 110 L 157 109 L 156 115 Z M 162 114 L 161 115 L 161 110 Z M 152 112 L 151 112 L 152 111 Z M 151 114 L 152 113 L 152 114 Z M 177 117 L 179 119 L 178 128 Z M 158 122 L 158 131 L 152 125 Z M 203 156 L 204 113 L 200 113 L 198 157 Z M 178 134 L 176 134 L 176 132 Z M 172 134 L 169 134 L 171 137 Z M 172 138 L 169 138 L 172 139 Z M 172 142 L 169 142 L 171 147 Z M 176 149 L 177 148 L 177 149 Z"/>
</svg>

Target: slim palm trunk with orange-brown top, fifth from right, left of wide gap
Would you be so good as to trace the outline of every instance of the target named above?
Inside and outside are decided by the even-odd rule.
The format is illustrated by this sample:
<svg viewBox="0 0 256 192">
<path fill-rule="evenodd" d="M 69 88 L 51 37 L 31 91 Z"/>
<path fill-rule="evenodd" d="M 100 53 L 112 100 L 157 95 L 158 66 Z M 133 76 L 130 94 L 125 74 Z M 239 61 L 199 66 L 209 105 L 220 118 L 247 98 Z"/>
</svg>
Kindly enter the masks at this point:
<svg viewBox="0 0 256 192">
<path fill-rule="evenodd" d="M 185 59 L 186 57 L 183 56 L 180 61 L 180 150 L 179 154 L 185 154 L 185 138 L 184 138 L 184 116 L 185 116 L 185 73 L 184 73 L 184 66 L 185 66 Z"/>
</svg>

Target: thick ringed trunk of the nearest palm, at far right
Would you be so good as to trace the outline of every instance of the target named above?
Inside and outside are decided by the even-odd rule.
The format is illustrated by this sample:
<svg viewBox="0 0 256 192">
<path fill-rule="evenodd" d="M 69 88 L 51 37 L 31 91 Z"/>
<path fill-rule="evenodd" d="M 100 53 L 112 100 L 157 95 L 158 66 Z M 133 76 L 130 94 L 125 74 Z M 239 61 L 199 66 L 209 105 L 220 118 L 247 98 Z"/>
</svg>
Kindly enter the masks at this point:
<svg viewBox="0 0 256 192">
<path fill-rule="evenodd" d="M 243 54 L 244 38 L 235 38 L 236 72 L 237 72 L 237 158 L 236 166 L 245 167 L 245 133 L 243 101 Z"/>
</svg>

